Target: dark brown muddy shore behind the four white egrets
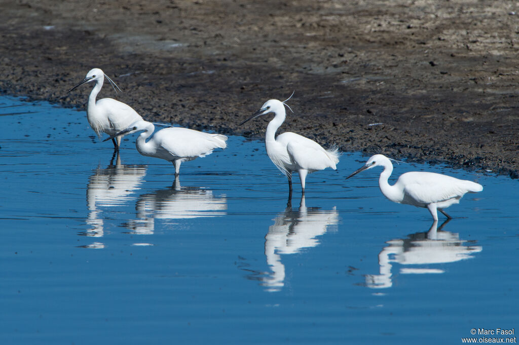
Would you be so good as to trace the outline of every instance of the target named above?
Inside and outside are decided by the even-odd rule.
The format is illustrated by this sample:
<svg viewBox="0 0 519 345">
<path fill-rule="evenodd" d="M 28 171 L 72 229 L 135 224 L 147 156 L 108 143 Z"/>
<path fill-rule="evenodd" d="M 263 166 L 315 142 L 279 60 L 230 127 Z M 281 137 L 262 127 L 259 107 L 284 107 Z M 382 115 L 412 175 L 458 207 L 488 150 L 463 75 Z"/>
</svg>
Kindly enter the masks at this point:
<svg viewBox="0 0 519 345">
<path fill-rule="evenodd" d="M 515 6 L 0 1 L 0 91 L 83 108 L 100 67 L 147 119 L 260 138 L 270 117 L 240 121 L 295 90 L 281 131 L 517 178 Z"/>
</svg>

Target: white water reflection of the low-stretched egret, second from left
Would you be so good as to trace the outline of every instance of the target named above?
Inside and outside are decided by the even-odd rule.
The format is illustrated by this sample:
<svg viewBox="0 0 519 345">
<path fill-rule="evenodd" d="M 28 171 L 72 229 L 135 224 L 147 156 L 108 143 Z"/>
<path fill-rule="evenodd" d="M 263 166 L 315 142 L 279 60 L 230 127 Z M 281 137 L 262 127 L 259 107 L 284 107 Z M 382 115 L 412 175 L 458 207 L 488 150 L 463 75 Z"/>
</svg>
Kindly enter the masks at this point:
<svg viewBox="0 0 519 345">
<path fill-rule="evenodd" d="M 220 217 L 226 214 L 227 199 L 214 196 L 212 190 L 199 187 L 181 187 L 179 176 L 171 188 L 159 189 L 139 196 L 136 218 L 124 224 L 131 233 L 152 234 L 155 219 L 188 219 Z"/>
</svg>

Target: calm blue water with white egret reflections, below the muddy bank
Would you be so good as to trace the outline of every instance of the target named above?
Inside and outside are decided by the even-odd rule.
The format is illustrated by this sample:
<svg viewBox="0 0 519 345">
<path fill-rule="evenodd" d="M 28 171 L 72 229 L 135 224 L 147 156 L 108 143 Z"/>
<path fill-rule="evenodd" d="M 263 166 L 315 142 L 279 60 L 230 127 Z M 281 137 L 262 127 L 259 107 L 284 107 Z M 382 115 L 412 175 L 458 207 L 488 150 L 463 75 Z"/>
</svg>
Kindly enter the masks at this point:
<svg viewBox="0 0 519 345">
<path fill-rule="evenodd" d="M 395 165 L 485 187 L 428 234 L 379 170 L 345 180 L 360 154 L 303 200 L 295 176 L 287 208 L 262 142 L 229 137 L 174 181 L 135 136 L 113 157 L 84 112 L 4 96 L 0 124 L 2 344 L 458 344 L 519 326 L 517 181 Z"/>
</svg>

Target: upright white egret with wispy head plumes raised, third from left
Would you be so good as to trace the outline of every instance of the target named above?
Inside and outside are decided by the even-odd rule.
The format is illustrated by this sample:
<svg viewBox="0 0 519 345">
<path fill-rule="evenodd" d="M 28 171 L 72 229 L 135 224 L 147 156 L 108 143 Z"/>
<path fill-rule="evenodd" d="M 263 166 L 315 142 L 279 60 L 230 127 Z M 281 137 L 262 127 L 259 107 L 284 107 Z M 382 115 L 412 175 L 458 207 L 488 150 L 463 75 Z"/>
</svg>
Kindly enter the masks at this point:
<svg viewBox="0 0 519 345">
<path fill-rule="evenodd" d="M 294 93 L 292 93 L 292 95 L 293 94 Z M 267 126 L 265 146 L 267 148 L 267 155 L 272 163 L 274 163 L 289 180 L 289 202 L 292 198 L 292 172 L 297 171 L 299 173 L 302 194 L 304 195 L 306 175 L 326 168 L 336 170 L 335 165 L 339 162 L 340 156 L 336 147 L 326 150 L 315 141 L 296 133 L 284 132 L 276 137 L 276 131 L 285 120 L 285 102 L 290 100 L 291 97 L 292 96 L 283 102 L 278 100 L 265 102 L 260 110 L 240 123 L 241 126 L 243 123 L 258 116 L 274 113 L 274 119 L 272 119 Z M 288 107 L 288 105 L 286 106 Z"/>
</svg>

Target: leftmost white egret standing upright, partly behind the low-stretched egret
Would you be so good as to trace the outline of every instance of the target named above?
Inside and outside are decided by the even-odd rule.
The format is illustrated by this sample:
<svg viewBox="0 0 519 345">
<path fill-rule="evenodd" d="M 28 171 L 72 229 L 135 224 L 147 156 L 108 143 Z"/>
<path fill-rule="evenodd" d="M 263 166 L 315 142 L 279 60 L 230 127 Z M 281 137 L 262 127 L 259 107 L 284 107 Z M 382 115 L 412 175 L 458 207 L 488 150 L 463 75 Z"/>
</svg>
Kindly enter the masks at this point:
<svg viewBox="0 0 519 345">
<path fill-rule="evenodd" d="M 112 98 L 103 98 L 97 102 L 95 101 L 95 98 L 103 87 L 104 77 L 110 81 L 114 90 L 115 88 L 119 89 L 115 82 L 104 74 L 102 70 L 93 68 L 87 73 L 85 79 L 81 80 L 79 84 L 69 90 L 69 92 L 71 92 L 80 85 L 95 81 L 95 85 L 88 96 L 87 120 L 88 123 L 90 123 L 90 127 L 92 127 L 95 134 L 99 137 L 101 133 L 114 135 L 128 128 L 131 123 L 142 120 L 142 117 L 126 103 L 119 102 Z M 115 91 L 117 92 L 117 90 Z M 117 142 L 115 139 L 113 139 L 112 142 L 114 143 L 114 148 L 118 150 L 121 144 L 121 137 L 117 137 Z"/>
</svg>

